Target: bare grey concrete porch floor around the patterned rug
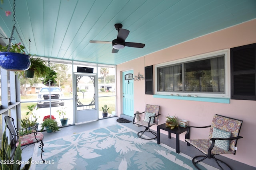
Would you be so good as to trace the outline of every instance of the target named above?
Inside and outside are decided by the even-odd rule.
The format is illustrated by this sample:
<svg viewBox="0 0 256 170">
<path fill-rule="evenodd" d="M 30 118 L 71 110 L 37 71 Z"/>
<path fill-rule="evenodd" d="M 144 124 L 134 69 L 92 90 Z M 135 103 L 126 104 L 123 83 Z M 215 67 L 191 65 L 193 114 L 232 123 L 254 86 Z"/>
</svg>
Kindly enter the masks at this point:
<svg viewBox="0 0 256 170">
<path fill-rule="evenodd" d="M 113 125 L 113 124 L 117 123 L 116 119 L 118 119 L 118 118 L 120 118 L 120 117 L 111 116 L 108 118 L 100 119 L 98 121 L 92 121 L 92 122 L 88 122 L 88 123 L 62 127 L 62 128 L 60 128 L 60 131 L 54 132 L 54 133 L 47 133 L 46 131 L 44 131 L 44 132 L 42 132 L 44 134 L 44 142 L 46 142 L 48 140 L 60 138 L 63 136 L 72 135 L 74 133 L 88 131 L 90 129 L 97 129 L 100 127 L 106 127 L 108 125 Z M 134 131 L 144 130 L 144 127 L 135 126 L 132 124 L 132 122 L 131 123 L 122 123 L 122 125 L 129 127 L 130 129 L 133 129 Z M 164 143 L 165 145 L 168 145 L 169 147 L 176 149 L 176 139 L 174 137 L 172 137 L 172 139 L 169 139 L 167 135 L 164 135 L 161 133 L 160 138 L 161 138 L 161 143 Z M 154 139 L 154 140 L 156 140 L 156 139 Z M 26 161 L 30 157 L 32 157 L 33 151 L 34 151 L 34 145 L 30 145 L 30 146 L 26 147 L 22 151 L 22 160 Z M 182 152 L 190 157 L 194 157 L 196 155 L 202 155 L 202 153 L 200 151 L 195 149 L 193 146 L 187 146 L 186 143 L 183 141 L 180 141 L 180 152 Z M 221 155 L 216 156 L 216 158 L 219 158 L 219 159 L 223 160 L 224 162 L 228 163 L 233 168 L 233 170 L 255 170 L 256 169 L 255 167 L 248 166 L 246 164 L 243 164 L 243 163 L 235 161 L 235 160 L 231 160 L 231 159 L 226 158 Z M 218 168 L 214 159 L 210 159 L 210 160 L 206 159 L 206 160 L 204 160 L 204 163 Z"/>
</svg>

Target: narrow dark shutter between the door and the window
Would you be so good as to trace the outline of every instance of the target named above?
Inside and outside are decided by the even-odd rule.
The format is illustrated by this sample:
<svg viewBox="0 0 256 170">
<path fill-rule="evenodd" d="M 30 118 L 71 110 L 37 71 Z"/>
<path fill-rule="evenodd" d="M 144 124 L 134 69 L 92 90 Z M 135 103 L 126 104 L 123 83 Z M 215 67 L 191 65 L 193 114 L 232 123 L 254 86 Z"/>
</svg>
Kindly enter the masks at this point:
<svg viewBox="0 0 256 170">
<path fill-rule="evenodd" d="M 145 94 L 154 94 L 154 91 L 153 91 L 153 66 L 145 67 Z"/>
</svg>

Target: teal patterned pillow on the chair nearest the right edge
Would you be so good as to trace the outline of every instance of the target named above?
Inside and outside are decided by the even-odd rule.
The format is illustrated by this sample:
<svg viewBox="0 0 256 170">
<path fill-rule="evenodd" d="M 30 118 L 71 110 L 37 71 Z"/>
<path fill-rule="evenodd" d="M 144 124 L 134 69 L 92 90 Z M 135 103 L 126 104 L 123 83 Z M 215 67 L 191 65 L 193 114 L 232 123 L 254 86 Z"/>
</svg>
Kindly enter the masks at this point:
<svg viewBox="0 0 256 170">
<path fill-rule="evenodd" d="M 212 131 L 212 138 L 214 138 L 214 137 L 230 138 L 231 133 L 214 127 L 213 131 Z M 212 143 L 212 141 L 210 141 L 210 143 Z M 229 150 L 229 144 L 230 144 L 230 141 L 224 141 L 224 140 L 216 140 L 215 143 L 214 143 L 214 145 L 216 147 L 219 147 L 220 149 L 223 149 L 223 150 L 226 150 L 226 151 Z"/>
</svg>

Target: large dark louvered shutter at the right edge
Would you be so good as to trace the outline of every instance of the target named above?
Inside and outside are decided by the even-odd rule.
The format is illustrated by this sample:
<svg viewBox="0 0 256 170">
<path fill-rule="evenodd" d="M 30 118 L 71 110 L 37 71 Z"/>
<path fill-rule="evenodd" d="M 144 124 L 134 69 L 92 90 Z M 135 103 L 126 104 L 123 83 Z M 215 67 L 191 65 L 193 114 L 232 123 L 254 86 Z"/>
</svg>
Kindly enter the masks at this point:
<svg viewBox="0 0 256 170">
<path fill-rule="evenodd" d="M 231 99 L 256 100 L 256 43 L 230 49 Z"/>
</svg>

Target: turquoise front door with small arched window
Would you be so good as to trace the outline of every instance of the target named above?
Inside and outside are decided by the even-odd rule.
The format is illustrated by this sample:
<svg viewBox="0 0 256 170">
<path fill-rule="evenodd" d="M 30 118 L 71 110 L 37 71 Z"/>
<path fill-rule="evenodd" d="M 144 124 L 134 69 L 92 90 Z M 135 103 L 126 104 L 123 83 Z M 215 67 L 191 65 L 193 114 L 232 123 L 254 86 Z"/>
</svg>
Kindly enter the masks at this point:
<svg viewBox="0 0 256 170">
<path fill-rule="evenodd" d="M 123 114 L 134 117 L 133 70 L 122 74 L 123 80 Z"/>
</svg>

